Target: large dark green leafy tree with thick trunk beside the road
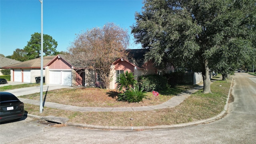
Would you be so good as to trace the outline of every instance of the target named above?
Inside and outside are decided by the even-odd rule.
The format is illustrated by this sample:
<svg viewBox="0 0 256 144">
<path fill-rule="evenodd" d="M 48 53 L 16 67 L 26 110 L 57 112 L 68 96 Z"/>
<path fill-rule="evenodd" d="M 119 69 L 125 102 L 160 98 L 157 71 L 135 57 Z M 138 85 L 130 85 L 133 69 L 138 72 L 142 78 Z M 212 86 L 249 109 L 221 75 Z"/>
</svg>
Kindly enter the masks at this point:
<svg viewBox="0 0 256 144">
<path fill-rule="evenodd" d="M 255 52 L 255 12 L 255 0 L 144 0 L 132 33 L 156 65 L 202 72 L 210 93 L 209 69 L 228 70 Z"/>
</svg>

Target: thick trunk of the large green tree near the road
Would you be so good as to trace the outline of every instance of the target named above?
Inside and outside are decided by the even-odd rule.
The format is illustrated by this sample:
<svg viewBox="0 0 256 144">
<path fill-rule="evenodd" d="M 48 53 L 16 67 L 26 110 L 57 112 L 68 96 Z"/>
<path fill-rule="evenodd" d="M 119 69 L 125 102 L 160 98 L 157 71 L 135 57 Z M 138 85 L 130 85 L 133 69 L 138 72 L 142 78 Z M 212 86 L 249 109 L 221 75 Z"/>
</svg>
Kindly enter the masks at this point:
<svg viewBox="0 0 256 144">
<path fill-rule="evenodd" d="M 211 80 L 210 80 L 210 74 L 209 74 L 208 60 L 204 60 L 203 80 L 204 80 L 204 93 L 212 93 L 210 88 Z"/>
</svg>

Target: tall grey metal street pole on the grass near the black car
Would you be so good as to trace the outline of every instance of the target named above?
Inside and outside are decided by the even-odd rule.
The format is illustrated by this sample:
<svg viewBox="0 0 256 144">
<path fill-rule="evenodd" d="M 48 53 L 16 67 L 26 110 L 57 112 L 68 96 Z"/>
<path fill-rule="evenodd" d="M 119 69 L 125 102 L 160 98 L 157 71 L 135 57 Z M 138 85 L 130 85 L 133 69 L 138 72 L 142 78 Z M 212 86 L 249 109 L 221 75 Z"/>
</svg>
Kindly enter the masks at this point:
<svg viewBox="0 0 256 144">
<path fill-rule="evenodd" d="M 40 113 L 43 112 L 43 51 L 44 51 L 44 35 L 43 35 L 43 0 L 41 2 L 41 78 L 40 78 Z"/>
</svg>

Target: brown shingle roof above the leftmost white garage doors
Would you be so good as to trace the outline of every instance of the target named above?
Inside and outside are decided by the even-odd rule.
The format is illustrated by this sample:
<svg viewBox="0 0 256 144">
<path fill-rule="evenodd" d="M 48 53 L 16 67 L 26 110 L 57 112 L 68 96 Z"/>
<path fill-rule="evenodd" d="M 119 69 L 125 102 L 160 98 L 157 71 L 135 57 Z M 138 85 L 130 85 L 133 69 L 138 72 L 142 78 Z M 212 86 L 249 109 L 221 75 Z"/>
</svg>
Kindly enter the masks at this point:
<svg viewBox="0 0 256 144">
<path fill-rule="evenodd" d="M 54 57 L 55 56 L 44 56 L 43 57 L 43 65 L 45 66 Z M 41 68 L 41 58 L 35 58 L 33 60 L 27 60 L 24 62 L 20 62 L 18 64 L 4 66 L 4 68 Z"/>
</svg>

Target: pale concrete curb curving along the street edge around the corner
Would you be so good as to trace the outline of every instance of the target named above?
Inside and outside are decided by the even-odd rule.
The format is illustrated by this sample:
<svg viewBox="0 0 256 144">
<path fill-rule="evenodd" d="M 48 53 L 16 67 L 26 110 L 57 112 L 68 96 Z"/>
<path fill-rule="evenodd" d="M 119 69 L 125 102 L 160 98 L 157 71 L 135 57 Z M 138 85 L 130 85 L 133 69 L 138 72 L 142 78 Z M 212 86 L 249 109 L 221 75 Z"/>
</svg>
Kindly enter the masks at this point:
<svg viewBox="0 0 256 144">
<path fill-rule="evenodd" d="M 183 124 L 172 124 L 172 125 L 159 125 L 159 126 L 97 126 L 97 125 L 89 125 L 89 124 L 75 124 L 75 123 L 66 123 L 64 122 L 67 126 L 76 126 L 76 127 L 85 127 L 85 128 L 94 128 L 94 129 L 111 129 L 111 130 L 157 130 L 157 129 L 170 129 L 170 128 L 181 128 L 181 127 L 188 127 L 188 126 L 194 126 L 198 124 L 206 124 L 209 122 L 214 122 L 218 119 L 220 119 L 224 114 L 226 114 L 226 111 L 228 109 L 228 100 L 230 97 L 230 92 L 233 84 L 233 79 L 230 85 L 230 89 L 228 92 L 228 97 L 226 99 L 226 104 L 224 106 L 224 110 L 220 112 L 217 116 L 214 116 L 212 118 L 208 118 L 205 120 L 199 120 L 196 122 L 188 122 L 188 123 L 183 123 Z M 27 114 L 30 117 L 33 118 L 38 118 L 38 119 L 45 119 L 47 117 L 41 117 L 41 116 L 36 116 L 32 114 Z M 60 118 L 60 117 L 58 117 Z M 66 118 L 65 118 L 66 119 Z"/>
</svg>

